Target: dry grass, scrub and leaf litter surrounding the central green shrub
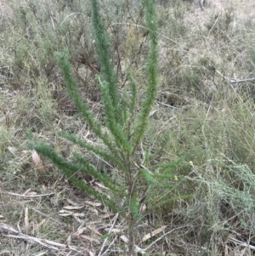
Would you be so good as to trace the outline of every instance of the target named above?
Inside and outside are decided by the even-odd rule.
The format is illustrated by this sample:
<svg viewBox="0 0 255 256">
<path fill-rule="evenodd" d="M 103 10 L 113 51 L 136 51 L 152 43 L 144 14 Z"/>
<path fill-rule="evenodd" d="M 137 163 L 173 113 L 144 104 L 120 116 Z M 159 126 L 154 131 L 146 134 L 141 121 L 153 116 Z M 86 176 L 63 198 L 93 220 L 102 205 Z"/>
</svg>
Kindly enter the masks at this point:
<svg viewBox="0 0 255 256">
<path fill-rule="evenodd" d="M 144 143 L 153 155 L 167 139 L 164 151 L 151 156 L 153 164 L 185 160 L 147 198 L 135 243 L 151 245 L 148 255 L 253 255 L 254 3 L 208 0 L 202 11 L 196 1 L 158 2 L 158 97 Z M 101 143 L 65 93 L 54 60 L 55 52 L 69 49 L 83 98 L 100 119 L 89 1 L 0 5 L 0 255 L 125 255 L 124 220 L 27 148 L 27 130 L 66 158 L 78 149 L 59 139 L 59 129 Z M 101 5 L 120 94 L 130 66 L 142 99 L 148 48 L 143 10 L 135 1 Z M 119 175 L 91 152 L 82 154 Z M 81 179 L 109 194 L 97 180 Z"/>
</svg>

